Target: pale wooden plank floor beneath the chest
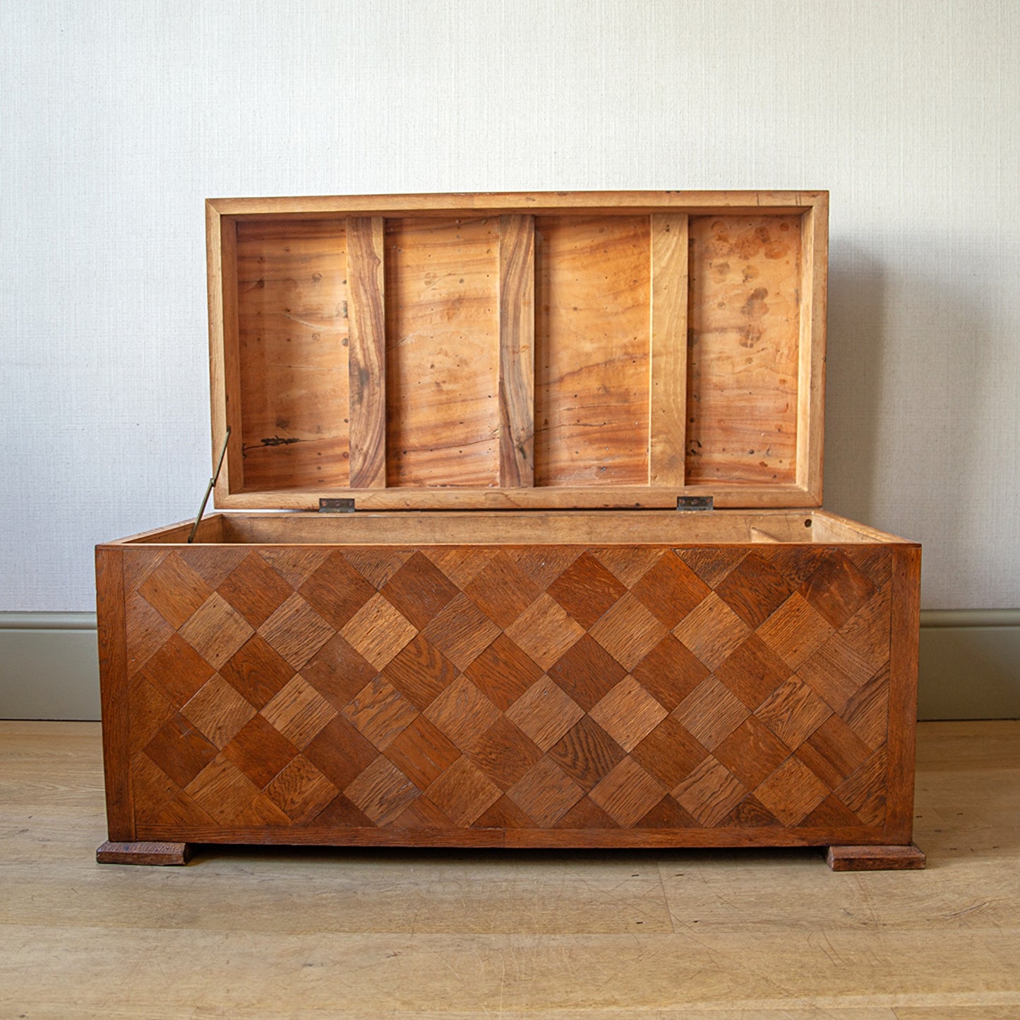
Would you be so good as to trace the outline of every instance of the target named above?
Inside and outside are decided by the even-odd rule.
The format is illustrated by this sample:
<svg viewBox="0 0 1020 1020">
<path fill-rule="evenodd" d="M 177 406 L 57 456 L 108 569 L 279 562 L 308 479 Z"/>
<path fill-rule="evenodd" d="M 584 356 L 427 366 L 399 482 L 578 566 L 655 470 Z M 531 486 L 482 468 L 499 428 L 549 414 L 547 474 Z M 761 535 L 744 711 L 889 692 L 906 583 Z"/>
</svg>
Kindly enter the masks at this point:
<svg viewBox="0 0 1020 1020">
<path fill-rule="evenodd" d="M 925 871 L 103 838 L 98 725 L 0 723 L 0 1017 L 1020 1017 L 1020 722 L 922 725 Z"/>
</svg>

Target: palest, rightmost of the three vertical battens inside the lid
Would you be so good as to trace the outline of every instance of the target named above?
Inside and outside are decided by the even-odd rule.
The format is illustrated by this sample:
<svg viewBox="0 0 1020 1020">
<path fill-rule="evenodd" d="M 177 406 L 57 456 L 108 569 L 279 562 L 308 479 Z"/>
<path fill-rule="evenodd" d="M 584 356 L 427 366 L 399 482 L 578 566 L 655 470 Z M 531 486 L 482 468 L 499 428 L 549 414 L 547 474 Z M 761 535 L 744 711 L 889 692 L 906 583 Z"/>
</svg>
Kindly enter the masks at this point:
<svg viewBox="0 0 1020 1020">
<path fill-rule="evenodd" d="M 687 405 L 686 213 L 652 216 L 651 317 L 649 484 L 682 486 Z"/>
</svg>

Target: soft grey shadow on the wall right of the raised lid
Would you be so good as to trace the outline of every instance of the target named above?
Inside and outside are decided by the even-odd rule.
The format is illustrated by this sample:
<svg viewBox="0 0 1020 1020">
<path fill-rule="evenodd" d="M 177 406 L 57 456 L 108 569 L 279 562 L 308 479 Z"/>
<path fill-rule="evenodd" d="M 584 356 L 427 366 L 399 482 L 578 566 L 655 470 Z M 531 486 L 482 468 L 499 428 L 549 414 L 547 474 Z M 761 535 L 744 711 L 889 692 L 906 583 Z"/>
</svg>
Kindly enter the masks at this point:
<svg viewBox="0 0 1020 1020">
<path fill-rule="evenodd" d="M 996 388 L 987 318 L 952 278 L 911 266 L 896 279 L 860 249 L 833 248 L 825 505 L 929 542 L 922 605 L 959 608 L 959 593 L 986 585 L 975 536 L 992 508 L 967 495 L 994 441 L 982 414 Z"/>
</svg>

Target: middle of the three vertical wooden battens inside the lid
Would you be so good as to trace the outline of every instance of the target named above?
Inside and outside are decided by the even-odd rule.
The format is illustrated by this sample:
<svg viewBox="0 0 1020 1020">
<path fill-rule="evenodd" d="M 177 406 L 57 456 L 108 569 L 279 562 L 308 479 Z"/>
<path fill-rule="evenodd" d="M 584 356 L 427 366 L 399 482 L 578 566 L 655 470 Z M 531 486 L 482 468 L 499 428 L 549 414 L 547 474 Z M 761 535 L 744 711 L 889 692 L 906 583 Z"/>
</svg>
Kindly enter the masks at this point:
<svg viewBox="0 0 1020 1020">
<path fill-rule="evenodd" d="M 500 486 L 534 484 L 534 217 L 500 216 Z"/>
</svg>

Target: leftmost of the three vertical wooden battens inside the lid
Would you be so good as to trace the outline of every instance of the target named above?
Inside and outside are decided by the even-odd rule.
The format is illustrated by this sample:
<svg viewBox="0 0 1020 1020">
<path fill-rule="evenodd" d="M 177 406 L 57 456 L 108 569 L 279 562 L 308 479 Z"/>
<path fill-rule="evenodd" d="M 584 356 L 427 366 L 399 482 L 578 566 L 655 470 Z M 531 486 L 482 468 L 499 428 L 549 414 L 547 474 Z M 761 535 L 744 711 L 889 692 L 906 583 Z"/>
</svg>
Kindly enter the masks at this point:
<svg viewBox="0 0 1020 1020">
<path fill-rule="evenodd" d="M 351 488 L 386 486 L 382 217 L 347 221 Z"/>
</svg>

